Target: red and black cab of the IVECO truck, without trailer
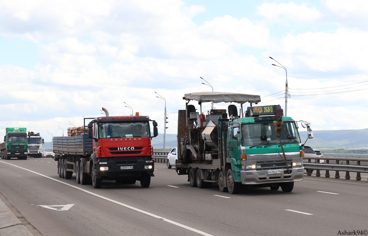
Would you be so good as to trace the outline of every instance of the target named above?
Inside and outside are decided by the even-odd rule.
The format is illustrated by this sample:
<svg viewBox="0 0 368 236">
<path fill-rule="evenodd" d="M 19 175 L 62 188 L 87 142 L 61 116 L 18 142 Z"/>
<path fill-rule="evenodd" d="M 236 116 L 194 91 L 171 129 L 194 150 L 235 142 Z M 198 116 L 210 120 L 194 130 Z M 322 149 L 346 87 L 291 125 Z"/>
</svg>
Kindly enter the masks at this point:
<svg viewBox="0 0 368 236">
<path fill-rule="evenodd" d="M 158 135 L 157 122 L 153 121 L 151 136 L 149 121 L 148 116 L 137 112 L 135 116 L 98 117 L 88 124 L 93 165 L 86 168 L 90 168 L 97 187 L 103 179 L 125 183 L 140 180 L 142 187 L 149 186 L 154 176 L 151 139 Z"/>
</svg>

